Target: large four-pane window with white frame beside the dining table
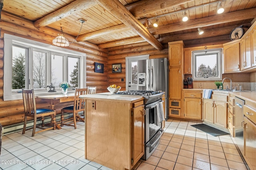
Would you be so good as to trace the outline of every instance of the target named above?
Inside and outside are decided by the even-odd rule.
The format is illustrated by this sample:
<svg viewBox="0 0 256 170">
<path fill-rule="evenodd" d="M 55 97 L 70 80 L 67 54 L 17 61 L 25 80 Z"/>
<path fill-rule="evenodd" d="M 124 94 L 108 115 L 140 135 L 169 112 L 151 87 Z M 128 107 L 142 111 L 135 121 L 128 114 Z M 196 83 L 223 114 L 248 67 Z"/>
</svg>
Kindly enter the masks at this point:
<svg viewBox="0 0 256 170">
<path fill-rule="evenodd" d="M 22 99 L 22 88 L 46 95 L 46 86 L 51 83 L 56 93 L 61 93 L 59 84 L 63 81 L 72 89 L 85 87 L 83 53 L 8 34 L 4 34 L 4 51 L 4 100 Z"/>
</svg>

